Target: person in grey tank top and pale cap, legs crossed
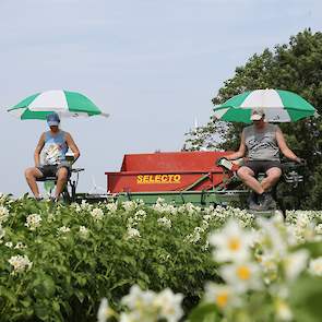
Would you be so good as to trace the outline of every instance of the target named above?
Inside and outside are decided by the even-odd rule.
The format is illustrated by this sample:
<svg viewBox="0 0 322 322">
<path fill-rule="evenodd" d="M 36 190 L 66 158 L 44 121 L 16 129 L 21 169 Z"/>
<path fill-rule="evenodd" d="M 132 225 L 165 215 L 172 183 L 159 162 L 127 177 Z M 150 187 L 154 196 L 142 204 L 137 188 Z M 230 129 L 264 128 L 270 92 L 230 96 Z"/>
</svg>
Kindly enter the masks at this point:
<svg viewBox="0 0 322 322">
<path fill-rule="evenodd" d="M 265 121 L 263 109 L 253 109 L 251 115 L 253 124 L 243 129 L 239 150 L 227 156 L 227 159 L 245 157 L 242 166 L 237 175 L 252 192 L 249 198 L 249 207 L 254 211 L 265 211 L 276 207 L 271 194 L 282 176 L 279 152 L 290 160 L 301 163 L 286 144 L 278 126 Z M 259 172 L 265 174 L 260 182 Z"/>
</svg>

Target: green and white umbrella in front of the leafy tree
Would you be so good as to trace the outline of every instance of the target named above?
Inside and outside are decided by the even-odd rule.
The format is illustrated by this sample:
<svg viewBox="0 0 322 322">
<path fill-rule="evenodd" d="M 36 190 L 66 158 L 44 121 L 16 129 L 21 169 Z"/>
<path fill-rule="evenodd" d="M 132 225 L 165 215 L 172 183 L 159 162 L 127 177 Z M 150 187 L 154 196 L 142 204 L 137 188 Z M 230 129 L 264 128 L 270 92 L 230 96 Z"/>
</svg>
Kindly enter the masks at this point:
<svg viewBox="0 0 322 322">
<path fill-rule="evenodd" d="M 255 90 L 229 98 L 214 108 L 214 118 L 223 121 L 250 123 L 255 108 L 265 111 L 267 122 L 291 122 L 318 116 L 314 107 L 301 96 L 281 90 Z"/>
</svg>

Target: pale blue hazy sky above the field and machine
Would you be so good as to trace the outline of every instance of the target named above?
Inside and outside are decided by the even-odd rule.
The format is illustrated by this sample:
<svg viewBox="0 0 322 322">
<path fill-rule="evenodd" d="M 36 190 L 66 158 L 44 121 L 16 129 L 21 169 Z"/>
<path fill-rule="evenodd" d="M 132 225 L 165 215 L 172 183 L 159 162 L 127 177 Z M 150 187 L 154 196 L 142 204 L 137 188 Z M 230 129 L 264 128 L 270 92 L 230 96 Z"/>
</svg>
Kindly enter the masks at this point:
<svg viewBox="0 0 322 322">
<path fill-rule="evenodd" d="M 96 192 L 124 154 L 180 151 L 236 67 L 321 32 L 321 0 L 0 0 L 0 192 L 28 191 L 47 130 L 7 112 L 26 96 L 80 92 L 110 114 L 61 122 L 81 150 L 77 191 Z"/>
</svg>

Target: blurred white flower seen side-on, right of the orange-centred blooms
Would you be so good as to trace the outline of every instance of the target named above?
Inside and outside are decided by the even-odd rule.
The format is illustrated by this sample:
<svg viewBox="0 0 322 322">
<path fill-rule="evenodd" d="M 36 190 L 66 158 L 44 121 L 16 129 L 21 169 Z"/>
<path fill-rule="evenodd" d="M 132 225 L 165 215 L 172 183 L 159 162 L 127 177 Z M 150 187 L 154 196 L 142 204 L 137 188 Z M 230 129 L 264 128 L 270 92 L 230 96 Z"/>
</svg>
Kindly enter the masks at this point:
<svg viewBox="0 0 322 322">
<path fill-rule="evenodd" d="M 306 267 L 309 259 L 307 250 L 298 250 L 283 259 L 283 266 L 287 279 L 294 281 Z"/>
</svg>

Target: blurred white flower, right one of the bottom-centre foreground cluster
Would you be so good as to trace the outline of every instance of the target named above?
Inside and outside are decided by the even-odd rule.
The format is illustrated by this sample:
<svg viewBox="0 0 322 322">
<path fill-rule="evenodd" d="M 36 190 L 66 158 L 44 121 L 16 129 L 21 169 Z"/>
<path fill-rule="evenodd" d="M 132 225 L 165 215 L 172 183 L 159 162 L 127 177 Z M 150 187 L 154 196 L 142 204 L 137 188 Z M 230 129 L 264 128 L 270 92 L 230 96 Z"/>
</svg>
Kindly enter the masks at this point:
<svg viewBox="0 0 322 322">
<path fill-rule="evenodd" d="M 156 295 L 154 305 L 159 308 L 159 318 L 168 322 L 179 321 L 183 315 L 183 310 L 181 308 L 182 299 L 182 294 L 174 294 L 169 288 Z"/>
</svg>

